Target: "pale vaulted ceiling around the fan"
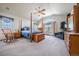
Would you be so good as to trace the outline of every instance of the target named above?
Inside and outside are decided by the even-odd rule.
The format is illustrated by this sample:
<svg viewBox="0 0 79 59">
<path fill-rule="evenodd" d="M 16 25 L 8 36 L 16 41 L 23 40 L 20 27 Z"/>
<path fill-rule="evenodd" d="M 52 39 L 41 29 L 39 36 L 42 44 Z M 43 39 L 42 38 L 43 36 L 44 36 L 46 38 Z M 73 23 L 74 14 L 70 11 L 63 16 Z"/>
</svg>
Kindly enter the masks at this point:
<svg viewBox="0 0 79 59">
<path fill-rule="evenodd" d="M 46 9 L 45 16 L 52 14 L 67 15 L 71 12 L 72 3 L 0 3 L 0 13 L 8 13 L 15 16 L 29 18 L 35 8 Z M 35 15 L 35 17 L 38 17 Z"/>
</svg>

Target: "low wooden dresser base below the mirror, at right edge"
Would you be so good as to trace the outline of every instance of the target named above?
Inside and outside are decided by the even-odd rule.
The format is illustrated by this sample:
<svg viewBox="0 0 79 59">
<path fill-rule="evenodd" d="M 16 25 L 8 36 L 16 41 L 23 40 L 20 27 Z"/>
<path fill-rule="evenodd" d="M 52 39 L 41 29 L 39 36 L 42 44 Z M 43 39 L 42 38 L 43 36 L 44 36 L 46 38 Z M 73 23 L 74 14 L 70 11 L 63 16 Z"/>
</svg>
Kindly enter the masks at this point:
<svg viewBox="0 0 79 59">
<path fill-rule="evenodd" d="M 79 33 L 65 32 L 64 40 L 71 56 L 79 56 Z"/>
</svg>

